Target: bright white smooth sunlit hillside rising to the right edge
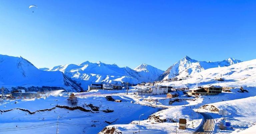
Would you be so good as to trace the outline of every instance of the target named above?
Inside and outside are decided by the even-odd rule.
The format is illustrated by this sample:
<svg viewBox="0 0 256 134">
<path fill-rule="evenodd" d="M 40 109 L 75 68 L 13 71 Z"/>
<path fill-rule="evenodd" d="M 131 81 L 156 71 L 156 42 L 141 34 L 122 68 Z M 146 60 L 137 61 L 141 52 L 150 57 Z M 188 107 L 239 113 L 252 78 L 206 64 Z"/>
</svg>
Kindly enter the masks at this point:
<svg viewBox="0 0 256 134">
<path fill-rule="evenodd" d="M 178 76 L 179 77 L 179 76 Z M 222 77 L 224 81 L 214 80 Z M 215 67 L 194 73 L 181 81 L 162 83 L 163 85 L 184 85 L 190 88 L 200 85 L 220 85 L 225 87 L 256 86 L 256 59 L 233 64 L 227 67 Z"/>
</svg>

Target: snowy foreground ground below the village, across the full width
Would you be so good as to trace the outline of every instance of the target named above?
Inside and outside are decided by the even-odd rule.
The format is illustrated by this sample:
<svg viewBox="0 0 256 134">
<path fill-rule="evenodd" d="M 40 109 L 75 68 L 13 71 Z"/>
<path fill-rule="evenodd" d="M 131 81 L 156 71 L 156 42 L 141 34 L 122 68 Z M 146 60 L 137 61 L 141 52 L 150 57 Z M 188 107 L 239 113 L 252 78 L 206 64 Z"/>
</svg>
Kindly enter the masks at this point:
<svg viewBox="0 0 256 134">
<path fill-rule="evenodd" d="M 140 121 L 141 134 L 176 133 L 176 121 L 179 118 L 187 119 L 187 129 L 177 129 L 178 133 L 193 133 L 202 123 L 202 116 L 196 113 L 199 111 L 207 112 L 214 118 L 214 133 L 231 133 L 236 129 L 244 130 L 256 123 L 256 109 L 252 109 L 256 101 L 256 88 L 246 87 L 245 89 L 249 93 L 237 92 L 239 89 L 236 88 L 231 89 L 231 92 L 223 92 L 215 96 L 199 97 L 188 97 L 179 91 L 179 97 L 172 99 L 166 98 L 166 95 L 137 96 L 133 94 L 136 89 L 131 89 L 128 95 L 126 95 L 125 90 L 76 93 L 77 106 L 90 110 L 87 112 L 57 107 L 75 107 L 68 103 L 67 96 L 69 94 L 67 93 L 59 93 L 40 99 L 5 100 L 0 104 L 2 111 L 0 121 L 4 122 L 1 123 L 0 132 L 7 134 L 13 132 L 27 133 L 28 131 L 42 134 L 45 132 L 56 133 L 57 118 L 60 116 L 58 124 L 60 133 L 97 134 L 105 127 L 115 127 L 116 131 L 128 134 L 138 132 L 138 118 L 139 115 L 144 114 Z M 107 101 L 105 98 L 107 95 L 111 95 L 114 99 L 120 99 L 122 102 Z M 175 101 L 175 99 L 179 101 Z M 171 105 L 169 105 L 170 100 L 173 101 Z M 89 104 L 98 107 L 98 111 L 93 111 Z M 199 108 L 203 105 L 213 105 L 218 109 L 226 109 L 228 115 L 223 119 L 216 112 Z M 37 112 L 30 114 L 28 111 L 17 108 Z M 42 111 L 46 109 L 51 110 Z M 103 112 L 107 109 L 114 111 Z M 218 125 L 225 120 L 231 122 L 232 128 L 220 131 Z"/>
</svg>

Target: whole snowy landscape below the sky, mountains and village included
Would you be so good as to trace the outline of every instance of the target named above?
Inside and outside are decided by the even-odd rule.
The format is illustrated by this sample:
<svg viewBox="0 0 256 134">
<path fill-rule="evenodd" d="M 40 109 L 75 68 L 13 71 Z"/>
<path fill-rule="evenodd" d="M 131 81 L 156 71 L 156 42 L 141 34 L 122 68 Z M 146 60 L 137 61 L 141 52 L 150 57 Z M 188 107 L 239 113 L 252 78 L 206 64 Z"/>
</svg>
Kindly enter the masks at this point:
<svg viewBox="0 0 256 134">
<path fill-rule="evenodd" d="M 36 68 L 0 55 L 4 134 L 256 132 L 256 60 L 197 61 L 166 71 L 102 62 Z"/>
</svg>

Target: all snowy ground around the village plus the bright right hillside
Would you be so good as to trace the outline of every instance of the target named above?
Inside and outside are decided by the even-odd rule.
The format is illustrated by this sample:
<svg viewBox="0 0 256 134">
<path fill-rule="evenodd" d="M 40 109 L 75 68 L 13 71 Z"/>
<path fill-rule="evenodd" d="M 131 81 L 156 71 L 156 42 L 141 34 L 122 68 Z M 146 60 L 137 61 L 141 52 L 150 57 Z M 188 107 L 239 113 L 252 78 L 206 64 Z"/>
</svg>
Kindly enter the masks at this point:
<svg viewBox="0 0 256 134">
<path fill-rule="evenodd" d="M 188 96 L 178 91 L 178 98 L 166 95 L 137 96 L 137 86 L 126 90 L 93 90 L 74 93 L 77 105 L 68 103 L 70 93 L 53 93 L 39 99 L 4 100 L 0 103 L 0 132 L 12 133 L 56 133 L 62 134 L 107 134 L 110 131 L 122 134 L 174 134 L 180 118 L 187 119 L 187 129 L 178 133 L 193 133 L 203 123 L 204 112 L 213 118 L 213 133 L 245 133 L 253 131 L 256 124 L 255 63 L 241 62 L 229 67 L 203 70 L 188 79 L 161 82 L 159 85 L 187 86 L 220 85 L 233 87 L 229 92 L 212 96 Z M 222 75 L 224 81 L 214 80 Z M 248 92 L 239 92 L 243 86 Z M 122 102 L 107 101 L 106 96 Z M 169 104 L 169 102 L 172 104 Z M 218 115 L 218 110 L 228 114 Z M 143 114 L 139 121 L 139 116 Z M 220 129 L 221 123 L 231 122 L 230 127 Z M 140 125 L 139 125 L 140 124 Z M 248 129 L 248 130 L 247 130 Z"/>
</svg>

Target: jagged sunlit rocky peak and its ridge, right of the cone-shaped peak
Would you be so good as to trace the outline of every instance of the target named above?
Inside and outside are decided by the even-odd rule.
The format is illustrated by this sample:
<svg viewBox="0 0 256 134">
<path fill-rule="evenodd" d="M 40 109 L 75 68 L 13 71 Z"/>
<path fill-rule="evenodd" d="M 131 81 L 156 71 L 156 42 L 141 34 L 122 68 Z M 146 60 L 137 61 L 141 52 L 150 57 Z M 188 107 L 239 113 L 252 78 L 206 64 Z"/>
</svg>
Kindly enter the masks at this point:
<svg viewBox="0 0 256 134">
<path fill-rule="evenodd" d="M 158 80 L 164 80 L 174 77 L 182 78 L 186 77 L 187 75 L 199 73 L 209 68 L 225 67 L 239 62 L 241 61 L 233 58 L 229 58 L 220 62 L 206 62 L 193 60 L 188 56 L 185 56 L 180 61 L 170 66 L 162 75 L 158 77 Z"/>
</svg>

